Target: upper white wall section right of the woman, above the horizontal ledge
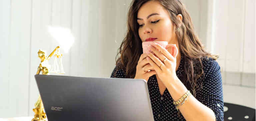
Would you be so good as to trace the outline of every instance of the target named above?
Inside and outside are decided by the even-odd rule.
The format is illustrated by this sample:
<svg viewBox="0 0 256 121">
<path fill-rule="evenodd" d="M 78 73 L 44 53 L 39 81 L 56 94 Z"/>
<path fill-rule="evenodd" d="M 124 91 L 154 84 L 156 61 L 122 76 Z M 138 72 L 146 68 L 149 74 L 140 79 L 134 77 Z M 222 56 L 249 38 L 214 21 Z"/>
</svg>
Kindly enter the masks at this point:
<svg viewBox="0 0 256 121">
<path fill-rule="evenodd" d="M 255 73 L 255 0 L 182 1 L 206 49 L 220 55 L 223 71 Z"/>
</svg>

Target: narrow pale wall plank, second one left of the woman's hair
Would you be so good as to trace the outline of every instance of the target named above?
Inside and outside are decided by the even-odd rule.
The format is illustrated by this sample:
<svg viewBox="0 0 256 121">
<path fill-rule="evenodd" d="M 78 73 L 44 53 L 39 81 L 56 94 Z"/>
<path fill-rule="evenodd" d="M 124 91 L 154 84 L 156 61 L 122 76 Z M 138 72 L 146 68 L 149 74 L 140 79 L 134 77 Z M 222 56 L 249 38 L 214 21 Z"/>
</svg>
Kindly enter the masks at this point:
<svg viewBox="0 0 256 121">
<path fill-rule="evenodd" d="M 80 55 L 83 56 L 83 75 L 86 77 L 98 77 L 100 72 L 100 58 L 101 43 L 99 41 L 99 14 L 98 14 L 99 0 L 82 1 L 82 30 L 80 48 L 87 48 L 86 51 L 81 51 Z M 97 6 L 97 8 L 96 8 Z"/>
</svg>

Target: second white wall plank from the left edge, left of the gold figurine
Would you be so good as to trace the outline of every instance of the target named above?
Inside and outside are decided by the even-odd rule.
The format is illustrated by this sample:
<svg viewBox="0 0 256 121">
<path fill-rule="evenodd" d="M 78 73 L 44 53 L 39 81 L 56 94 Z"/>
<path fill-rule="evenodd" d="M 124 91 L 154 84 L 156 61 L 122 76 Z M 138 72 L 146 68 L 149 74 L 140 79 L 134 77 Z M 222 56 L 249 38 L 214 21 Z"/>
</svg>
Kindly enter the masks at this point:
<svg viewBox="0 0 256 121">
<path fill-rule="evenodd" d="M 24 4 L 24 5 L 20 5 Z M 17 28 L 17 26 L 19 26 Z M 9 106 L 16 116 L 27 115 L 29 57 L 31 29 L 31 0 L 11 0 L 9 36 Z M 25 111 L 24 111 L 25 110 Z"/>
</svg>

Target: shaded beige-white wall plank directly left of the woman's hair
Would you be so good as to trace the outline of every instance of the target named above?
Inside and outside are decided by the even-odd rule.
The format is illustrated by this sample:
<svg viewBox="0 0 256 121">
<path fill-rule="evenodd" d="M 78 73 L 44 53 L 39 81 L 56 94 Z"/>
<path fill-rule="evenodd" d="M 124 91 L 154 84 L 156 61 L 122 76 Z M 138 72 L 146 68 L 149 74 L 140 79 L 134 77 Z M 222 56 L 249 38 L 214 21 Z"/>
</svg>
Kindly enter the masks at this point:
<svg viewBox="0 0 256 121">
<path fill-rule="evenodd" d="M 126 34 L 127 12 L 130 0 L 102 1 L 100 6 L 99 39 L 102 53 L 101 66 L 103 77 L 110 77 L 114 65 L 117 49 Z M 104 24 L 109 23 L 109 24 Z M 110 64 L 111 63 L 111 64 Z"/>
</svg>

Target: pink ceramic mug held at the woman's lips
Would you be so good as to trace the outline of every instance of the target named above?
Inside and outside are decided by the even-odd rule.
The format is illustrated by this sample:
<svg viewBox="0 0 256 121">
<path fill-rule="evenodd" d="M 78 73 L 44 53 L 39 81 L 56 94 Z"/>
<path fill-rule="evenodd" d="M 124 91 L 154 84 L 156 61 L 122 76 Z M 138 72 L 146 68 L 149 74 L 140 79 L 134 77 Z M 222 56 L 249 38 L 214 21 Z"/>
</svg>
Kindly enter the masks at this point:
<svg viewBox="0 0 256 121">
<path fill-rule="evenodd" d="M 142 43 L 143 53 L 151 52 L 148 46 L 151 45 L 152 43 L 157 43 L 157 44 L 161 45 L 163 48 L 165 48 L 166 50 L 167 50 L 169 47 L 172 47 L 170 54 L 171 54 L 174 58 L 176 58 L 176 56 L 178 55 L 178 48 L 176 47 L 176 45 L 175 45 L 175 44 L 168 44 L 168 42 L 166 42 L 166 41 L 143 42 L 143 43 Z"/>
</svg>

